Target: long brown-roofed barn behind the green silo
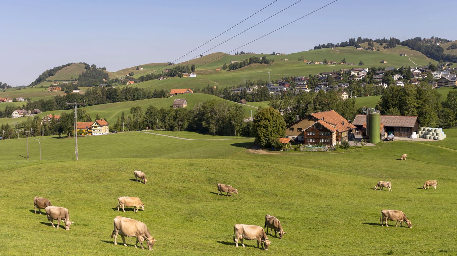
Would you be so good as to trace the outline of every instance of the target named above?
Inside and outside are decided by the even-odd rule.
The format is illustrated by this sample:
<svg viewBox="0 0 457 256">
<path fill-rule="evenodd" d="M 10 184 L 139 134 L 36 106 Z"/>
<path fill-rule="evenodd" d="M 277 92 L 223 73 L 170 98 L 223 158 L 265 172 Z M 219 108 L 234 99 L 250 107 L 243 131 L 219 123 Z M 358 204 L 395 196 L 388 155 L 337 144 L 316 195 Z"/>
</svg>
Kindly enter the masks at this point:
<svg viewBox="0 0 457 256">
<path fill-rule="evenodd" d="M 366 115 L 356 115 L 354 118 L 353 125 L 356 126 L 356 135 L 366 136 L 367 134 L 363 133 L 363 128 L 365 127 L 365 133 L 367 128 L 367 116 Z M 365 126 L 364 126 L 365 125 Z M 417 121 L 417 116 L 381 116 L 381 126 L 384 126 L 385 133 L 393 134 L 395 137 L 404 137 L 407 138 L 411 135 L 412 132 L 415 132 L 419 128 L 419 123 Z M 382 127 L 381 127 L 382 128 Z M 383 131 L 383 129 L 381 129 Z"/>
</svg>

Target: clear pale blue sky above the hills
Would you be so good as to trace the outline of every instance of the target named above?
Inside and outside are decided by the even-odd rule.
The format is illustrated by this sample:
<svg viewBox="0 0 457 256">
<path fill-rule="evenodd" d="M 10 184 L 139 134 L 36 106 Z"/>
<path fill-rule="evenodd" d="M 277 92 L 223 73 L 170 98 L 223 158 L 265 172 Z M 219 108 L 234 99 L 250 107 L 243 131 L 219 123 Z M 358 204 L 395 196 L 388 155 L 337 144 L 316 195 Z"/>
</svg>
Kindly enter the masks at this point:
<svg viewBox="0 0 457 256">
<path fill-rule="evenodd" d="M 117 71 L 173 61 L 272 1 L 0 0 L 0 81 L 13 86 L 27 85 L 46 69 L 69 62 L 84 61 Z M 297 1 L 276 1 L 181 61 Z M 302 0 L 210 52 L 233 50 L 331 1 Z M 452 29 L 455 25 L 442 23 L 455 21 L 443 17 L 443 10 L 456 9 L 454 0 L 440 1 L 439 6 L 425 0 L 338 0 L 240 50 L 290 53 L 357 36 L 394 36 L 400 40 L 437 36 L 456 40 L 457 33 Z"/>
</svg>

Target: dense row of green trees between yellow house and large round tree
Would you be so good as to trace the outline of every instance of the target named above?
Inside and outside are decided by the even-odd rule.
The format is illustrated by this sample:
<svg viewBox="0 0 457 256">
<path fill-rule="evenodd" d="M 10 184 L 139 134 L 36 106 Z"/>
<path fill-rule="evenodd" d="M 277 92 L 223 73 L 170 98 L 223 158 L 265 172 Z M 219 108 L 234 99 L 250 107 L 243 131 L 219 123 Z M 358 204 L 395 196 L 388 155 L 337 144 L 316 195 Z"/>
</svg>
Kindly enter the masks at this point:
<svg viewBox="0 0 457 256">
<path fill-rule="evenodd" d="M 167 131 L 195 131 L 212 135 L 250 136 L 250 124 L 244 123 L 241 105 L 222 100 L 198 102 L 193 110 L 186 108 L 132 107 L 131 115 L 122 112 L 113 128 L 117 131 L 163 129 Z"/>
</svg>

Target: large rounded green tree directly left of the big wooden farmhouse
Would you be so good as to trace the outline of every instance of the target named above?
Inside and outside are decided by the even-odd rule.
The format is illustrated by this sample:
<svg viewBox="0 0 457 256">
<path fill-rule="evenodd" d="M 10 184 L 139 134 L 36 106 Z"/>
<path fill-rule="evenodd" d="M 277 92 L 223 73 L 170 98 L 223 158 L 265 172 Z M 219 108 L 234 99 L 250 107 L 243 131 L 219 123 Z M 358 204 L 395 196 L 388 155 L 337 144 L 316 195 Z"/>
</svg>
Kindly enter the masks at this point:
<svg viewBox="0 0 457 256">
<path fill-rule="evenodd" d="M 269 147 L 274 139 L 286 135 L 286 123 L 274 108 L 261 108 L 252 123 L 254 137 L 263 147 Z"/>
</svg>

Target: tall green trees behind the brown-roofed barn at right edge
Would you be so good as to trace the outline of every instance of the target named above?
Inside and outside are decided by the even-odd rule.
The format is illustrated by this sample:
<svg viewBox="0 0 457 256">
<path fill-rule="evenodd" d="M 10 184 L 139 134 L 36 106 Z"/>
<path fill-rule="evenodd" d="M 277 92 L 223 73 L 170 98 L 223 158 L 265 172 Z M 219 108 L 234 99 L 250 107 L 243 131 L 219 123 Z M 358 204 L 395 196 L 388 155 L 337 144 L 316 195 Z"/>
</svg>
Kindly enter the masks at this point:
<svg viewBox="0 0 457 256">
<path fill-rule="evenodd" d="M 418 116 L 420 126 L 452 128 L 457 120 L 457 91 L 449 91 L 446 101 L 427 85 L 388 87 L 376 109 L 383 115 Z"/>
</svg>

